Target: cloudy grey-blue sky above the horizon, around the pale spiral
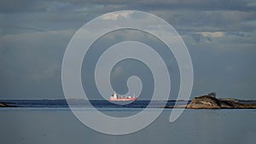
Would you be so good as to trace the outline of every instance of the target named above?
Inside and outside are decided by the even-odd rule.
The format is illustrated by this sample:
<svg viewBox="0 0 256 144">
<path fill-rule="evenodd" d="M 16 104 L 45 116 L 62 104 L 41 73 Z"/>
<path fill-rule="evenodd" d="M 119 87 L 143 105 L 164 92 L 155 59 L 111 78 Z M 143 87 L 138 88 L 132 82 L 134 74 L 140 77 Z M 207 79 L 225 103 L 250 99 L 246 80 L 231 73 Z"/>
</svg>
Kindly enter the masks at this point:
<svg viewBox="0 0 256 144">
<path fill-rule="evenodd" d="M 0 99 L 65 98 L 61 64 L 67 44 L 84 24 L 117 10 L 155 14 L 177 30 L 193 63 L 191 98 L 213 91 L 218 97 L 256 99 L 256 2 L 253 0 L 0 1 Z M 113 32 L 98 40 L 96 46 L 110 46 L 132 39 L 131 36 L 144 43 L 152 40 L 142 32 Z M 133 62 L 114 67 L 115 71 L 121 67 L 128 72 L 119 78 L 112 76 L 116 79 L 113 85 L 121 93 L 125 91 L 125 78 L 133 73 L 132 66 L 136 66 Z M 169 66 L 177 69 L 176 65 L 170 62 Z M 82 78 L 86 83 L 90 75 L 84 67 Z M 145 85 L 150 85 L 152 79 L 147 78 L 150 72 L 143 72 L 137 71 L 137 75 L 145 76 Z M 177 70 L 173 74 L 172 95 L 175 95 L 179 84 Z M 147 92 L 143 94 L 147 99 Z"/>
</svg>

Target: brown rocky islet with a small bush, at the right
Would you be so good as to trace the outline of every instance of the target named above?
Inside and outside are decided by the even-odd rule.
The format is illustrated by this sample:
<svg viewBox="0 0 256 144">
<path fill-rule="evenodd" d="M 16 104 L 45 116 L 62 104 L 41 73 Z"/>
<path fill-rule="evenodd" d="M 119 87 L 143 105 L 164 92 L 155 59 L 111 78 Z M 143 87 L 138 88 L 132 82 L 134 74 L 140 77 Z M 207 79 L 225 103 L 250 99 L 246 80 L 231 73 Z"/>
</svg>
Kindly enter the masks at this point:
<svg viewBox="0 0 256 144">
<path fill-rule="evenodd" d="M 256 104 L 244 104 L 235 101 L 219 100 L 210 95 L 195 97 L 186 108 L 189 109 L 228 109 L 228 108 L 256 108 Z"/>
</svg>

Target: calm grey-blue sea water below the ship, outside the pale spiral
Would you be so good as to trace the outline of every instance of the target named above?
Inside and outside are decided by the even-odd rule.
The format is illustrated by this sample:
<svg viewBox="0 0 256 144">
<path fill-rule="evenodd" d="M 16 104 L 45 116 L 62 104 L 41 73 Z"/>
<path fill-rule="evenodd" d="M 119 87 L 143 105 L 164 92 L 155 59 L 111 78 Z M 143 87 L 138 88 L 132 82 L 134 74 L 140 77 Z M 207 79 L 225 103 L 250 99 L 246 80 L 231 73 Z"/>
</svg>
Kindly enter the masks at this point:
<svg viewBox="0 0 256 144">
<path fill-rule="evenodd" d="M 45 101 L 49 102 L 49 100 Z M 13 104 L 19 104 L 19 107 L 1 107 L 0 143 L 254 144 L 256 140 L 256 110 L 254 109 L 186 109 L 173 123 L 169 121 L 170 113 L 177 109 L 165 109 L 152 124 L 143 130 L 128 135 L 107 135 L 91 130 L 82 124 L 67 107 L 67 103 L 62 101 L 61 104 L 59 100 L 59 103 L 46 104 L 45 101 L 16 101 Z M 169 102 L 173 104 L 173 101 Z M 138 103 L 131 103 L 131 105 L 137 106 Z M 147 105 L 147 102 L 143 101 L 143 103 Z M 155 106 L 159 107 L 159 103 Z M 113 107 L 111 105 L 104 107 L 101 103 L 94 106 L 102 112 L 113 115 L 123 113 L 131 115 L 142 111 L 144 107 Z M 86 107 L 83 108 L 86 111 Z M 147 112 L 150 114 L 152 111 L 149 109 Z"/>
</svg>

